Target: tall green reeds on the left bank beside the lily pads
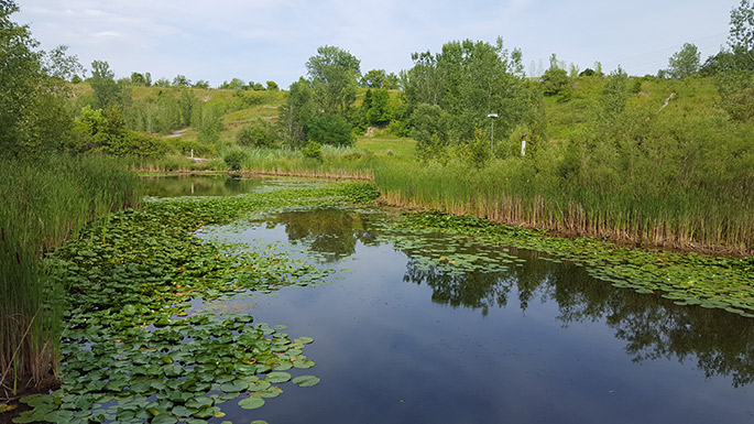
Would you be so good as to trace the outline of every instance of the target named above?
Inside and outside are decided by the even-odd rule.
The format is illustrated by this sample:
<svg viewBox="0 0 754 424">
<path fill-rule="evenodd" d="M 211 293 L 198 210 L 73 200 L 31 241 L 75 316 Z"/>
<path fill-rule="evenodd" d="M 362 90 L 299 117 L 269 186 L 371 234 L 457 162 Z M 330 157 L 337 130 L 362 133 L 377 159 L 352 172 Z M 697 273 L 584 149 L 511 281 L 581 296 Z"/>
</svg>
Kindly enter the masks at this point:
<svg viewBox="0 0 754 424">
<path fill-rule="evenodd" d="M 107 157 L 0 160 L 0 398 L 56 380 L 63 287 L 45 252 L 96 216 L 139 204 Z"/>
</svg>

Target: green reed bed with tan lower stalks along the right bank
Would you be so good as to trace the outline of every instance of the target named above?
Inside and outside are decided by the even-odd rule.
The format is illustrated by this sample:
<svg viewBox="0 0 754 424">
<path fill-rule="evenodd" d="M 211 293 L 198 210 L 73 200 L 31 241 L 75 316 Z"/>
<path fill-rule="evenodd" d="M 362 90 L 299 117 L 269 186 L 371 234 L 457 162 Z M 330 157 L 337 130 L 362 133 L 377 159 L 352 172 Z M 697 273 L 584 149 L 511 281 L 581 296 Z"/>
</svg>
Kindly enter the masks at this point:
<svg viewBox="0 0 754 424">
<path fill-rule="evenodd" d="M 754 253 L 754 196 L 734 188 L 668 189 L 557 181 L 522 161 L 383 166 L 385 203 L 472 215 L 570 236 L 725 254 Z"/>
</svg>

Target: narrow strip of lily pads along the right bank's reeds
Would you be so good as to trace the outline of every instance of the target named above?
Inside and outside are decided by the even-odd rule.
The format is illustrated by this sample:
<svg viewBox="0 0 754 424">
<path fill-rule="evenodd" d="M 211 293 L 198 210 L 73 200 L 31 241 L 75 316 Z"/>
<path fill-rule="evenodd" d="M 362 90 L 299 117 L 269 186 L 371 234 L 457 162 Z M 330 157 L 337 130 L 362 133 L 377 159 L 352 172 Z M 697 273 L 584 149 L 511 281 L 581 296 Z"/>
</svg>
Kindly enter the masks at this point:
<svg viewBox="0 0 754 424">
<path fill-rule="evenodd" d="M 545 260 L 581 264 L 591 276 L 618 287 L 656 293 L 679 305 L 722 308 L 754 317 L 753 257 L 704 257 L 629 248 L 590 238 L 550 238 L 539 230 L 437 211 L 405 214 L 400 226 L 474 236 L 490 244 L 537 250 L 549 257 Z M 448 258 L 445 258 L 448 263 L 457 262 Z M 466 258 L 460 259 L 461 263 L 468 263 Z"/>
</svg>

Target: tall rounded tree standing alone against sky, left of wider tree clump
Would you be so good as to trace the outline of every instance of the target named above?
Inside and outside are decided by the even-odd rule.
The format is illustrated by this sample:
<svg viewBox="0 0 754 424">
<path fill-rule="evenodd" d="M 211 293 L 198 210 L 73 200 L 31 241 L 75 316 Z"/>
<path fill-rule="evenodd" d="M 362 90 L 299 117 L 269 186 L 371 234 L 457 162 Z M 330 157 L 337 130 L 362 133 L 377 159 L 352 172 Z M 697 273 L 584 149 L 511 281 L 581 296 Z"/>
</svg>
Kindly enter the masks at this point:
<svg viewBox="0 0 754 424">
<path fill-rule="evenodd" d="M 346 116 L 356 100 L 360 62 L 349 52 L 321 46 L 309 57 L 306 69 L 312 77 L 314 100 L 325 113 Z"/>
</svg>

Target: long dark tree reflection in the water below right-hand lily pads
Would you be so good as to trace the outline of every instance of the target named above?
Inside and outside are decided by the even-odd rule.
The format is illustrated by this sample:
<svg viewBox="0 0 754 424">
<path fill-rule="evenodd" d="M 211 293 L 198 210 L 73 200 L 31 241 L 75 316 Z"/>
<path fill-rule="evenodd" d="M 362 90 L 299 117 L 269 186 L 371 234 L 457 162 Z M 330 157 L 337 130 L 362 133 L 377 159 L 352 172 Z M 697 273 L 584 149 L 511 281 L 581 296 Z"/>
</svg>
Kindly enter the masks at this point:
<svg viewBox="0 0 754 424">
<path fill-rule="evenodd" d="M 431 287 L 433 302 L 480 309 L 504 307 L 517 295 L 525 311 L 534 297 L 558 304 L 564 324 L 599 322 L 626 341 L 625 351 L 636 362 L 659 358 L 696 360 L 710 378 L 730 376 L 733 385 L 754 381 L 754 320 L 720 309 L 679 306 L 658 294 L 616 289 L 589 276 L 575 264 L 537 260 L 536 252 L 518 251 L 527 259 L 507 271 L 440 272 L 408 260 L 404 281 Z"/>
</svg>

